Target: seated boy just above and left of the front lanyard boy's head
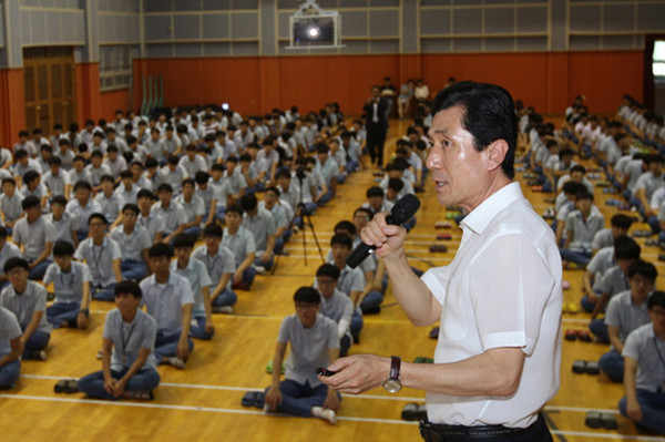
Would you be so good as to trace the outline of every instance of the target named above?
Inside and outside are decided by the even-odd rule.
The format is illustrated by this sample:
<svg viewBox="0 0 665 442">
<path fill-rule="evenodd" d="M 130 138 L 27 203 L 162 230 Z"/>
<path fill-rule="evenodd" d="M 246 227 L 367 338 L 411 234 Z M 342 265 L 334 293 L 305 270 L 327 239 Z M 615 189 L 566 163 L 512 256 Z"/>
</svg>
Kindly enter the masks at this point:
<svg viewBox="0 0 665 442">
<path fill-rule="evenodd" d="M 120 260 L 122 253 L 117 243 L 105 234 L 106 217 L 95 213 L 88 218 L 90 237 L 85 238 L 74 258 L 85 260 L 92 275 L 91 291 L 94 299 L 112 301 L 114 299 L 114 286 L 122 280 Z"/>
</svg>

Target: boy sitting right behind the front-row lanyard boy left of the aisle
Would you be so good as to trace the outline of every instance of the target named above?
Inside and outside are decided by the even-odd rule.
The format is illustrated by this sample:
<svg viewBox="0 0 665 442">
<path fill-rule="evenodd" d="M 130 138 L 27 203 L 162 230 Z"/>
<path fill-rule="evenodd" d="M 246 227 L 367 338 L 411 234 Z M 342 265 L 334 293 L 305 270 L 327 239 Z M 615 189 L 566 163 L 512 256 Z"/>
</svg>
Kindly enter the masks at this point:
<svg viewBox="0 0 665 442">
<path fill-rule="evenodd" d="M 141 281 L 141 305 L 157 321 L 155 357 L 157 363 L 182 370 L 194 349 L 188 338 L 194 304 L 192 287 L 190 281 L 170 270 L 171 247 L 155 244 L 147 254 L 153 274 Z"/>
</svg>

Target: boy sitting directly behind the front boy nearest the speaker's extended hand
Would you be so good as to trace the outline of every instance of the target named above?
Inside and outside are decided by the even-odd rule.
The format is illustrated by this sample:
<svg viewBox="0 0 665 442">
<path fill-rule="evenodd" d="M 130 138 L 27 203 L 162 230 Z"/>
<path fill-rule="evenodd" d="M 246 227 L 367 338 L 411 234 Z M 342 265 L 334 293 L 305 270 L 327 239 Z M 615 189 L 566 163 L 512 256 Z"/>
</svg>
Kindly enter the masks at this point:
<svg viewBox="0 0 665 442">
<path fill-rule="evenodd" d="M 345 357 L 351 347 L 351 318 L 354 302 L 337 289 L 339 269 L 331 264 L 321 265 L 316 270 L 316 285 L 321 295 L 320 312 L 337 323 L 339 337 L 339 356 Z"/>
</svg>

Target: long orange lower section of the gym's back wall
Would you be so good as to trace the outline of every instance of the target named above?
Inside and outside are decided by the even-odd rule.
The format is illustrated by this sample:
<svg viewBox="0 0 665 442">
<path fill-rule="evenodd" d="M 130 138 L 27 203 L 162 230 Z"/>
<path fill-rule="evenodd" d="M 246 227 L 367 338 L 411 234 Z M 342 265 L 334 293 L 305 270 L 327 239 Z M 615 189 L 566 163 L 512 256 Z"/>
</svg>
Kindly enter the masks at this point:
<svg viewBox="0 0 665 442">
<path fill-rule="evenodd" d="M 166 105 L 227 102 L 243 114 L 291 104 L 318 110 L 332 101 L 357 114 L 371 84 L 385 75 L 396 85 L 422 78 L 432 93 L 449 76 L 493 82 L 546 114 L 562 113 L 574 95 L 584 94 L 592 112 L 608 113 L 623 93 L 642 97 L 643 56 L 641 51 L 608 51 L 149 59 L 135 62 L 134 79 L 163 75 Z M 134 103 L 140 106 L 140 94 Z"/>
</svg>

